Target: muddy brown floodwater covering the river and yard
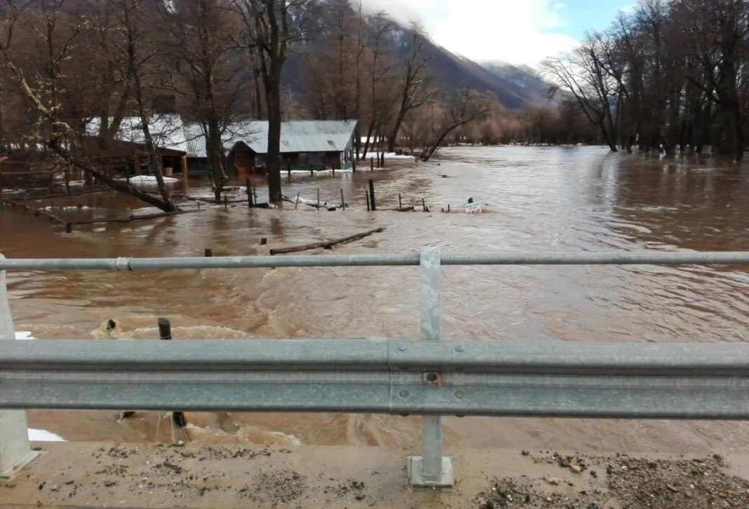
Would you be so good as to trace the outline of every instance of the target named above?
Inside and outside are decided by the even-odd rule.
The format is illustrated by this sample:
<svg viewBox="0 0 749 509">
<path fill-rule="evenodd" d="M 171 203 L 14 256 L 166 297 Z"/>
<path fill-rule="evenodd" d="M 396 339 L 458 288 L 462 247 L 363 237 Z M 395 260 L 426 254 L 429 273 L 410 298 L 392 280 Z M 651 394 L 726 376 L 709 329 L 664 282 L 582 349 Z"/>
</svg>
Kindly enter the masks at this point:
<svg viewBox="0 0 749 509">
<path fill-rule="evenodd" d="M 294 174 L 285 194 L 351 209 L 318 212 L 204 207 L 142 223 L 108 223 L 66 235 L 46 220 L 0 214 L 0 252 L 9 258 L 214 256 L 348 235 L 385 225 L 339 253 L 749 250 L 749 167 L 730 161 L 611 154 L 598 147 L 455 148 L 440 161 L 390 170 Z M 397 166 L 397 167 L 396 167 Z M 421 204 L 431 213 L 366 212 L 367 179 L 377 206 Z M 258 185 L 258 194 L 267 191 Z M 206 191 L 190 182 L 191 193 Z M 201 187 L 202 186 L 202 187 Z M 482 215 L 460 210 L 468 197 Z M 138 207 L 127 197 L 89 195 L 55 206 L 92 207 L 70 217 Z M 45 202 L 49 205 L 49 201 Z M 122 213 L 122 212 L 120 212 Z M 260 246 L 267 237 L 269 246 Z M 325 253 L 320 253 L 324 256 Z M 12 272 L 16 330 L 40 339 L 156 339 L 157 317 L 175 339 L 416 339 L 416 268 L 284 268 L 156 273 Z M 749 268 L 446 267 L 446 339 L 491 341 L 742 342 L 749 339 Z M 108 332 L 104 323 L 117 322 Z M 175 348 L 179 348 L 175 342 Z M 29 425 L 67 440 L 153 441 L 157 413 L 118 422 L 113 412 L 29 412 Z M 189 439 L 205 442 L 386 445 L 419 442 L 419 420 L 399 416 L 188 413 Z M 742 422 L 446 417 L 449 446 L 578 451 L 747 451 Z M 161 426 L 160 439 L 168 439 Z"/>
</svg>

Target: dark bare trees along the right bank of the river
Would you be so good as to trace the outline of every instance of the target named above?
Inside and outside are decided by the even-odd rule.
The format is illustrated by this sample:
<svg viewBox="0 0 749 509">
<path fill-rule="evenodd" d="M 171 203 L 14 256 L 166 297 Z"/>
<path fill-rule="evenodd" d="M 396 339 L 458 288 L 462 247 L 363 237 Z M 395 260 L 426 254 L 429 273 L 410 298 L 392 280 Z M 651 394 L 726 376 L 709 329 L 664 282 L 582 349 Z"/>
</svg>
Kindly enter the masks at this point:
<svg viewBox="0 0 749 509">
<path fill-rule="evenodd" d="M 612 151 L 710 145 L 741 160 L 748 28 L 747 0 L 640 0 L 541 67 Z"/>
</svg>

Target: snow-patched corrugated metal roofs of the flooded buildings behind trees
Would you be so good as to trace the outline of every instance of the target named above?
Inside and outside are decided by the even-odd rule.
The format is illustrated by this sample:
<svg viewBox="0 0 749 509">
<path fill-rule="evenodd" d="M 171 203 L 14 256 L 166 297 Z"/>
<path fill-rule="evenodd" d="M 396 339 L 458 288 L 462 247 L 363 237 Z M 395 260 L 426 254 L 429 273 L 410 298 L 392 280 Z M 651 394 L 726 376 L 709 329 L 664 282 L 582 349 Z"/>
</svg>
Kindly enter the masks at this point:
<svg viewBox="0 0 749 509">
<path fill-rule="evenodd" d="M 99 119 L 86 126 L 88 135 L 99 134 Z M 203 129 L 195 123 L 184 123 L 178 115 L 157 115 L 148 123 L 154 144 L 187 152 L 188 157 L 206 157 Z M 293 120 L 281 124 L 281 152 L 344 152 L 354 135 L 356 120 Z M 118 139 L 142 144 L 143 131 L 139 117 L 122 120 Z M 237 122 L 227 126 L 222 136 L 228 152 L 243 143 L 258 154 L 268 152 L 268 123 L 263 120 Z"/>
</svg>

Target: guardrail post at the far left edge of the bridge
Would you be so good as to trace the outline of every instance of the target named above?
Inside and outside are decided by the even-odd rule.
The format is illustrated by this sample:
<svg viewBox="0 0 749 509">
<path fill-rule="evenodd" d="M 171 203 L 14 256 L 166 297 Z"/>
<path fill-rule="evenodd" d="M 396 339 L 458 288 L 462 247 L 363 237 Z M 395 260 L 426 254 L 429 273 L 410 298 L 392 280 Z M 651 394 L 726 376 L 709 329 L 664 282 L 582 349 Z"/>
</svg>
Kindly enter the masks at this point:
<svg viewBox="0 0 749 509">
<path fill-rule="evenodd" d="M 0 254 L 0 260 L 5 259 Z M 5 288 L 5 271 L 0 271 L 0 348 L 3 341 L 16 339 L 13 317 Z M 0 410 L 0 479 L 10 478 L 39 453 L 31 450 L 25 410 Z"/>
</svg>

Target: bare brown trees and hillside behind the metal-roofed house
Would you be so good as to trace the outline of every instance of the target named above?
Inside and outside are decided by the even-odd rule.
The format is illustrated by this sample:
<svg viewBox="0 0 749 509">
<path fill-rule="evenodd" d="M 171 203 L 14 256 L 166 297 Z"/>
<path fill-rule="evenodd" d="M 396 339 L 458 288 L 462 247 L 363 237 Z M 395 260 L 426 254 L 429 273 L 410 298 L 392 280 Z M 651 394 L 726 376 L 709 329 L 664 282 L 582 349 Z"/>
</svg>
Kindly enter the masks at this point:
<svg viewBox="0 0 749 509">
<path fill-rule="evenodd" d="M 394 150 L 428 107 L 431 129 L 410 138 L 428 159 L 496 103 L 443 90 L 418 25 L 348 0 L 2 1 L 0 147 L 77 167 L 166 211 L 178 206 L 157 161 L 169 135 L 153 132 L 154 112 L 200 126 L 216 199 L 228 182 L 222 138 L 238 120 L 267 120 L 269 200 L 278 201 L 282 120 L 357 119 L 355 150 L 366 158 L 375 141 Z M 128 117 L 140 120 L 158 197 L 102 163 Z"/>
</svg>

